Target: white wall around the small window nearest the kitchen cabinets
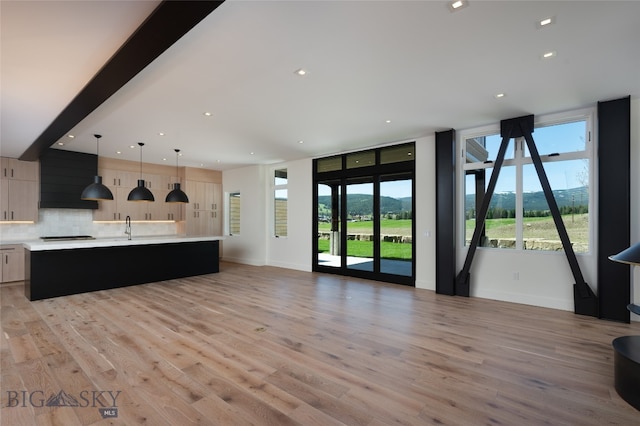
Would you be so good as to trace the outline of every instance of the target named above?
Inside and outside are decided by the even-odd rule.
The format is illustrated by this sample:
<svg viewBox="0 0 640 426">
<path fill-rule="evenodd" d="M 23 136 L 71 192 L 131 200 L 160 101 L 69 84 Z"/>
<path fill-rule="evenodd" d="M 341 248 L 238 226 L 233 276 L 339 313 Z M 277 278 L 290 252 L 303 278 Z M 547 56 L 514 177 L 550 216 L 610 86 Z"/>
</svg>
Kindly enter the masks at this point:
<svg viewBox="0 0 640 426">
<path fill-rule="evenodd" d="M 263 266 L 266 264 L 267 217 L 264 166 L 241 167 L 222 172 L 225 218 L 231 192 L 240 193 L 240 234 L 229 235 L 225 221 L 222 260 Z"/>
</svg>

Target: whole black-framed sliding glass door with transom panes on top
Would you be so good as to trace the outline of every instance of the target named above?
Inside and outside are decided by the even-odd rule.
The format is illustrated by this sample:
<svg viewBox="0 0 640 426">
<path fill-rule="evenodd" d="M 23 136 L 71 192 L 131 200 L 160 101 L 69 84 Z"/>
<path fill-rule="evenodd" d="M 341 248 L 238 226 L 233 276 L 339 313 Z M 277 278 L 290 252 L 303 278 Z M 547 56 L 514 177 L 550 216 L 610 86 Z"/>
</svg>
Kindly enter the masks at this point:
<svg viewBox="0 0 640 426">
<path fill-rule="evenodd" d="M 314 162 L 314 270 L 415 283 L 413 148 Z"/>
</svg>

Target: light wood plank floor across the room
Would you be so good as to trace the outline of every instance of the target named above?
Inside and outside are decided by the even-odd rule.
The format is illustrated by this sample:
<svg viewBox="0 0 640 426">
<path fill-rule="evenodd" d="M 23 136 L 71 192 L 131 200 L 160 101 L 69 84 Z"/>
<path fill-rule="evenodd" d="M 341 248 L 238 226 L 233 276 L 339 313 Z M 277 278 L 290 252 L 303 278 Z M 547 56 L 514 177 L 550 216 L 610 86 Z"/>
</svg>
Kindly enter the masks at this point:
<svg viewBox="0 0 640 426">
<path fill-rule="evenodd" d="M 611 348 L 638 323 L 221 269 L 38 302 L 1 287 L 1 424 L 640 424 Z M 61 391 L 79 406 L 38 406 Z"/>
</svg>

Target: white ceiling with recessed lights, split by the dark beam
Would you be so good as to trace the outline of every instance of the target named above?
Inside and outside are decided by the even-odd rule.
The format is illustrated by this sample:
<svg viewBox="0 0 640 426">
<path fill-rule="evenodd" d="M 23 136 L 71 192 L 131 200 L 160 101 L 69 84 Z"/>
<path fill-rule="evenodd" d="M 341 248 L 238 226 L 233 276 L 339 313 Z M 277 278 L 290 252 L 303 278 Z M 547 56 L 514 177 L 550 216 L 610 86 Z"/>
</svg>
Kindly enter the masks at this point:
<svg viewBox="0 0 640 426">
<path fill-rule="evenodd" d="M 1 154 L 19 157 L 158 3 L 2 0 Z M 639 1 L 228 0 L 62 149 L 95 153 L 100 133 L 101 156 L 138 161 L 144 142 L 145 162 L 179 148 L 180 165 L 225 170 L 637 98 L 639 41 Z"/>
</svg>

